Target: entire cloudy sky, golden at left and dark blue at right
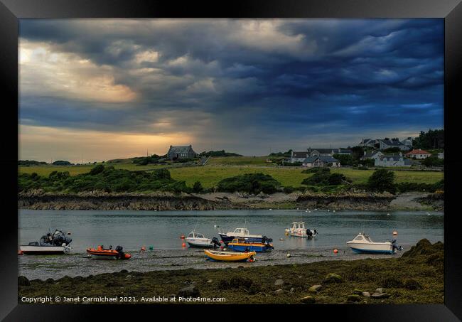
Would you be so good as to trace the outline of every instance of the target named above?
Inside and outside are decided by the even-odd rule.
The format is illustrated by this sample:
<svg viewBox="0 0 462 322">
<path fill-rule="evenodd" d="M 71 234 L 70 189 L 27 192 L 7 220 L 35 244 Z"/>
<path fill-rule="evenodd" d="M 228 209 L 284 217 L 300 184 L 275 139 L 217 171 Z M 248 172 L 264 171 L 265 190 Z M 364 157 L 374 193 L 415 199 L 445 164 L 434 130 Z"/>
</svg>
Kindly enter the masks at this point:
<svg viewBox="0 0 462 322">
<path fill-rule="evenodd" d="M 21 159 L 247 156 L 443 127 L 442 19 L 22 19 Z"/>
</svg>

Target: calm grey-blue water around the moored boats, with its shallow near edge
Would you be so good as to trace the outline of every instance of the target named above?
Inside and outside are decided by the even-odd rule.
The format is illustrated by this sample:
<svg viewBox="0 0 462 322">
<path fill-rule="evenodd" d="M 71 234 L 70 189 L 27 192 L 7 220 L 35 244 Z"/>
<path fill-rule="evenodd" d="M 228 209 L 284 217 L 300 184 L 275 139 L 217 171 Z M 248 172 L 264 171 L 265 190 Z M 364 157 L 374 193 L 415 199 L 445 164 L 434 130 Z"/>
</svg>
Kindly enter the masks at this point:
<svg viewBox="0 0 462 322">
<path fill-rule="evenodd" d="M 303 220 L 306 226 L 318 230 L 318 237 L 306 240 L 284 236 L 284 228 L 291 222 Z M 327 210 L 216 210 L 216 211 L 95 211 L 95 210 L 20 210 L 18 220 L 19 243 L 38 241 L 48 230 L 58 228 L 72 233 L 72 254 L 65 256 L 19 257 L 19 273 L 29 278 L 59 278 L 64 275 L 85 276 L 120 269 L 151 271 L 155 269 L 183 269 L 186 267 L 224 267 L 224 263 L 204 260 L 198 249 L 182 247 L 181 235 L 195 230 L 207 237 L 218 237 L 217 225 L 230 231 L 246 226 L 251 234 L 272 237 L 275 250 L 258 254 L 252 265 L 313 262 L 326 259 L 359 259 L 346 247 L 358 232 L 365 232 L 372 240 L 393 238 L 397 230 L 398 245 L 404 250 L 422 238 L 431 242 L 444 241 L 444 215 L 441 212 L 371 212 Z M 284 241 L 279 239 L 283 238 Z M 87 259 L 85 249 L 97 245 L 122 245 L 131 252 L 129 261 L 97 261 Z M 152 251 L 139 253 L 141 246 Z M 332 249 L 339 249 L 337 255 Z M 286 258 L 287 252 L 293 257 Z M 387 257 L 390 255 L 372 255 Z M 242 263 L 240 263 L 242 265 Z M 237 264 L 226 264 L 227 266 Z M 249 264 L 245 264 L 249 265 Z"/>
</svg>

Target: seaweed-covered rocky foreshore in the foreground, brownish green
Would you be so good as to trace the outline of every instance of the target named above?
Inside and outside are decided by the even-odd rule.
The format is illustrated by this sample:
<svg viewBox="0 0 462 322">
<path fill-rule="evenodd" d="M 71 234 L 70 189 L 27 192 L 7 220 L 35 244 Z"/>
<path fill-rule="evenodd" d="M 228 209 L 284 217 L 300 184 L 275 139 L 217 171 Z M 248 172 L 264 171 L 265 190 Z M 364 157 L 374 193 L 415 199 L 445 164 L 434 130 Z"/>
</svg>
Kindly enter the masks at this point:
<svg viewBox="0 0 462 322">
<path fill-rule="evenodd" d="M 402 257 L 386 259 L 161 272 L 122 270 L 45 281 L 18 277 L 20 302 L 45 296 L 50 299 L 48 304 L 210 304 L 207 299 L 217 298 L 224 299 L 219 302 L 224 304 L 442 304 L 444 245 L 421 240 Z M 60 302 L 55 296 L 60 296 Z M 104 300 L 109 298 L 115 301 Z"/>
</svg>

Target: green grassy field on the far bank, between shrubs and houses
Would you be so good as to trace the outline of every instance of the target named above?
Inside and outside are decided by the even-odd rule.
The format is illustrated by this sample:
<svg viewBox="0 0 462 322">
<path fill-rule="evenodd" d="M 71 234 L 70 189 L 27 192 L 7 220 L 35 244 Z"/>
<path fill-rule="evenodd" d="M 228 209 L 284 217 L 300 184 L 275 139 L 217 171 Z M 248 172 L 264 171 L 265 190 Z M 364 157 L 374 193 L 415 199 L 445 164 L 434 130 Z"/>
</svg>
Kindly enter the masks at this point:
<svg viewBox="0 0 462 322">
<path fill-rule="evenodd" d="M 195 181 L 200 181 L 204 188 L 216 186 L 224 178 L 238 176 L 243 173 L 265 173 L 269 174 L 282 186 L 299 187 L 301 181 L 311 173 L 301 173 L 303 168 L 276 167 L 266 163 L 264 156 L 245 156 L 245 157 L 226 157 L 211 158 L 207 166 L 190 166 L 181 168 L 169 168 L 173 179 L 186 181 L 188 186 L 193 186 Z M 103 163 L 104 164 L 104 163 Z M 135 170 L 153 170 L 162 168 L 161 165 L 136 166 L 133 163 L 106 163 L 114 168 Z M 20 173 L 36 172 L 41 176 L 48 176 L 52 171 L 69 171 L 71 176 L 90 171 L 93 165 L 85 166 L 20 166 Z M 343 173 L 347 178 L 351 178 L 353 183 L 366 183 L 367 178 L 374 172 L 373 170 L 355 170 L 351 168 L 332 168 L 332 173 Z M 429 171 L 394 171 L 396 182 L 409 183 L 436 183 L 444 178 L 443 172 Z"/>
</svg>

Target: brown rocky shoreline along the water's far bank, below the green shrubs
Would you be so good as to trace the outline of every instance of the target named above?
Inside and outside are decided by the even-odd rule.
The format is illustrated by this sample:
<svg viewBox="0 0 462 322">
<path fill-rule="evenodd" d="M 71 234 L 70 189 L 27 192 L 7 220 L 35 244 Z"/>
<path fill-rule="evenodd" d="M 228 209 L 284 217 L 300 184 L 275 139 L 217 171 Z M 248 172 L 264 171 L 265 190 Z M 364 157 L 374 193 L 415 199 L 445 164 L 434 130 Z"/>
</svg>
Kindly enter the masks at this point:
<svg viewBox="0 0 462 322">
<path fill-rule="evenodd" d="M 32 210 L 225 210 L 294 209 L 331 210 L 443 210 L 444 200 L 426 193 L 345 193 L 341 195 L 274 193 L 43 193 L 18 194 L 18 209 Z"/>
</svg>

